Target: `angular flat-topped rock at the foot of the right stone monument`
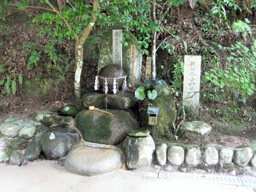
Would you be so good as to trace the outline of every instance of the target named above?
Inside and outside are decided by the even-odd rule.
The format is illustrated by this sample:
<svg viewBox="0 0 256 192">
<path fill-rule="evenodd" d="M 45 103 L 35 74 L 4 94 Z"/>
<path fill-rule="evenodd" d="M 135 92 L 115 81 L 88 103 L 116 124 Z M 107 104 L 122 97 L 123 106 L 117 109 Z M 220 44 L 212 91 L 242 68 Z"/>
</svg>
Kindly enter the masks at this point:
<svg viewBox="0 0 256 192">
<path fill-rule="evenodd" d="M 212 131 L 212 127 L 202 121 L 182 122 L 178 130 L 179 137 L 203 140 Z"/>
</svg>

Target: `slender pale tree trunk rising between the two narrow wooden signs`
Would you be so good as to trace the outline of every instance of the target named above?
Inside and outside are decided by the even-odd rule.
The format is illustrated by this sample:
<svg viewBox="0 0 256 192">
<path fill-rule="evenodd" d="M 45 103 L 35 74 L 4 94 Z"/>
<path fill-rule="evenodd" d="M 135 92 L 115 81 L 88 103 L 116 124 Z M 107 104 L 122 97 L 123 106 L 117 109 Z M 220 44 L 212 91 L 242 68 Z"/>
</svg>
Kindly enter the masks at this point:
<svg viewBox="0 0 256 192">
<path fill-rule="evenodd" d="M 152 19 L 153 21 L 156 20 L 156 0 L 154 0 L 154 3 L 152 4 Z M 156 79 L 156 35 L 157 32 L 155 29 L 152 30 L 153 37 L 152 37 L 152 46 L 151 46 L 151 52 L 152 52 L 152 79 Z"/>
</svg>

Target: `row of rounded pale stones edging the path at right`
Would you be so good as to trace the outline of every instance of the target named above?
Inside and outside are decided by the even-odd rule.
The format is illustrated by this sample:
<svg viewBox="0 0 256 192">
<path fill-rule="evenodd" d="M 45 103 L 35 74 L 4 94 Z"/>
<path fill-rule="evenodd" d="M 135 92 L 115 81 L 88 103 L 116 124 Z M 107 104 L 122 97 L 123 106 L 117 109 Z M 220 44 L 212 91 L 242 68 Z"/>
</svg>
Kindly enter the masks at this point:
<svg viewBox="0 0 256 192">
<path fill-rule="evenodd" d="M 206 147 L 198 149 L 195 147 L 180 147 L 159 144 L 156 146 L 156 160 L 161 166 L 165 166 L 165 170 L 170 170 L 170 166 L 181 166 L 183 163 L 189 166 L 197 166 L 202 163 L 205 165 L 234 164 L 239 167 L 247 167 L 252 170 L 256 167 L 256 155 L 249 147 L 237 148 L 234 151 L 225 147 Z M 251 165 L 251 168 L 248 168 Z M 248 171 L 249 172 L 249 171 Z M 256 173 L 253 172 L 252 175 Z"/>
</svg>

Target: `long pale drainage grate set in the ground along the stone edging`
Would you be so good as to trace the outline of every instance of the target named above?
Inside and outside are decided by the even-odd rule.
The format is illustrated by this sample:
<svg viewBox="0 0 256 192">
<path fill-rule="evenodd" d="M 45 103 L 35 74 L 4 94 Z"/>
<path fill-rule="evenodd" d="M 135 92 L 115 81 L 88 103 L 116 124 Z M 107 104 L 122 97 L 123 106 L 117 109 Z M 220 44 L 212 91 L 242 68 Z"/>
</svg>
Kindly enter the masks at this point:
<svg viewBox="0 0 256 192">
<path fill-rule="evenodd" d="M 245 179 L 245 178 L 239 178 L 235 176 L 212 176 L 212 175 L 198 175 L 198 174 L 188 174 L 188 173 L 159 173 L 158 178 L 217 182 L 222 184 L 231 184 L 231 185 L 235 184 L 235 185 L 246 185 L 246 186 L 256 187 L 256 179 Z"/>
</svg>

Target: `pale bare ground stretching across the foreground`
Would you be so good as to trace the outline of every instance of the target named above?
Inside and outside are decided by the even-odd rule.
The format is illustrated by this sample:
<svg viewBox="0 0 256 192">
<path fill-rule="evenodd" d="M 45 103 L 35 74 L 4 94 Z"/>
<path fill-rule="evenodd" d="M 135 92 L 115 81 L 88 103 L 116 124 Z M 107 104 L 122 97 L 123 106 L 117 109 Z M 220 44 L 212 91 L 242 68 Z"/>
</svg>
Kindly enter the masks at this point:
<svg viewBox="0 0 256 192">
<path fill-rule="evenodd" d="M 37 160 L 26 166 L 0 163 L 0 191 L 8 192 L 255 192 L 253 187 L 223 185 L 207 182 L 175 181 L 148 176 L 146 170 L 118 169 L 100 176 L 85 177 L 69 173 L 56 161 Z M 151 176 L 157 174 L 151 174 Z M 256 186 L 255 186 L 256 187 Z M 194 191 L 194 190 L 192 190 Z"/>
</svg>

